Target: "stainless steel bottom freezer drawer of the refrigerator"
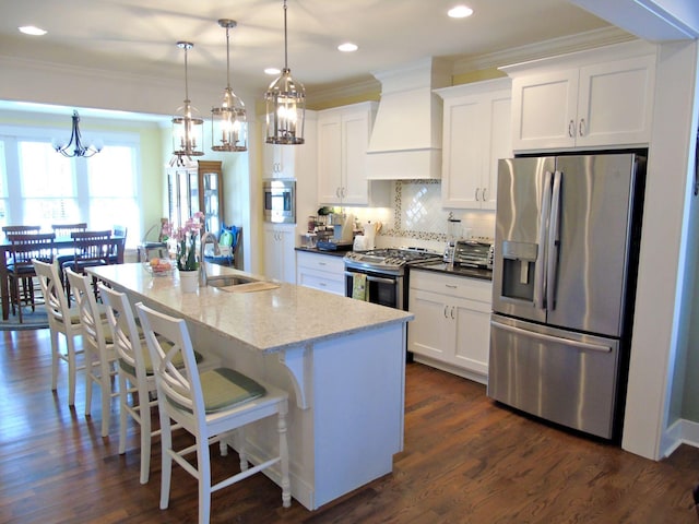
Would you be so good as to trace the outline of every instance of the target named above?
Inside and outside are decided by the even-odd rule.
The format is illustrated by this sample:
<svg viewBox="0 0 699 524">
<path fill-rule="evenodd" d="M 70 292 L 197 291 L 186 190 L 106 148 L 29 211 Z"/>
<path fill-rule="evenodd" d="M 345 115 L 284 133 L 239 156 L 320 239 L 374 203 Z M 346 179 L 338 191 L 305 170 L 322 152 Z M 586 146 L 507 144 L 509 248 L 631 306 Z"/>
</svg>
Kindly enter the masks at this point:
<svg viewBox="0 0 699 524">
<path fill-rule="evenodd" d="M 614 432 L 619 343 L 493 314 L 488 396 L 605 439 Z"/>
</svg>

